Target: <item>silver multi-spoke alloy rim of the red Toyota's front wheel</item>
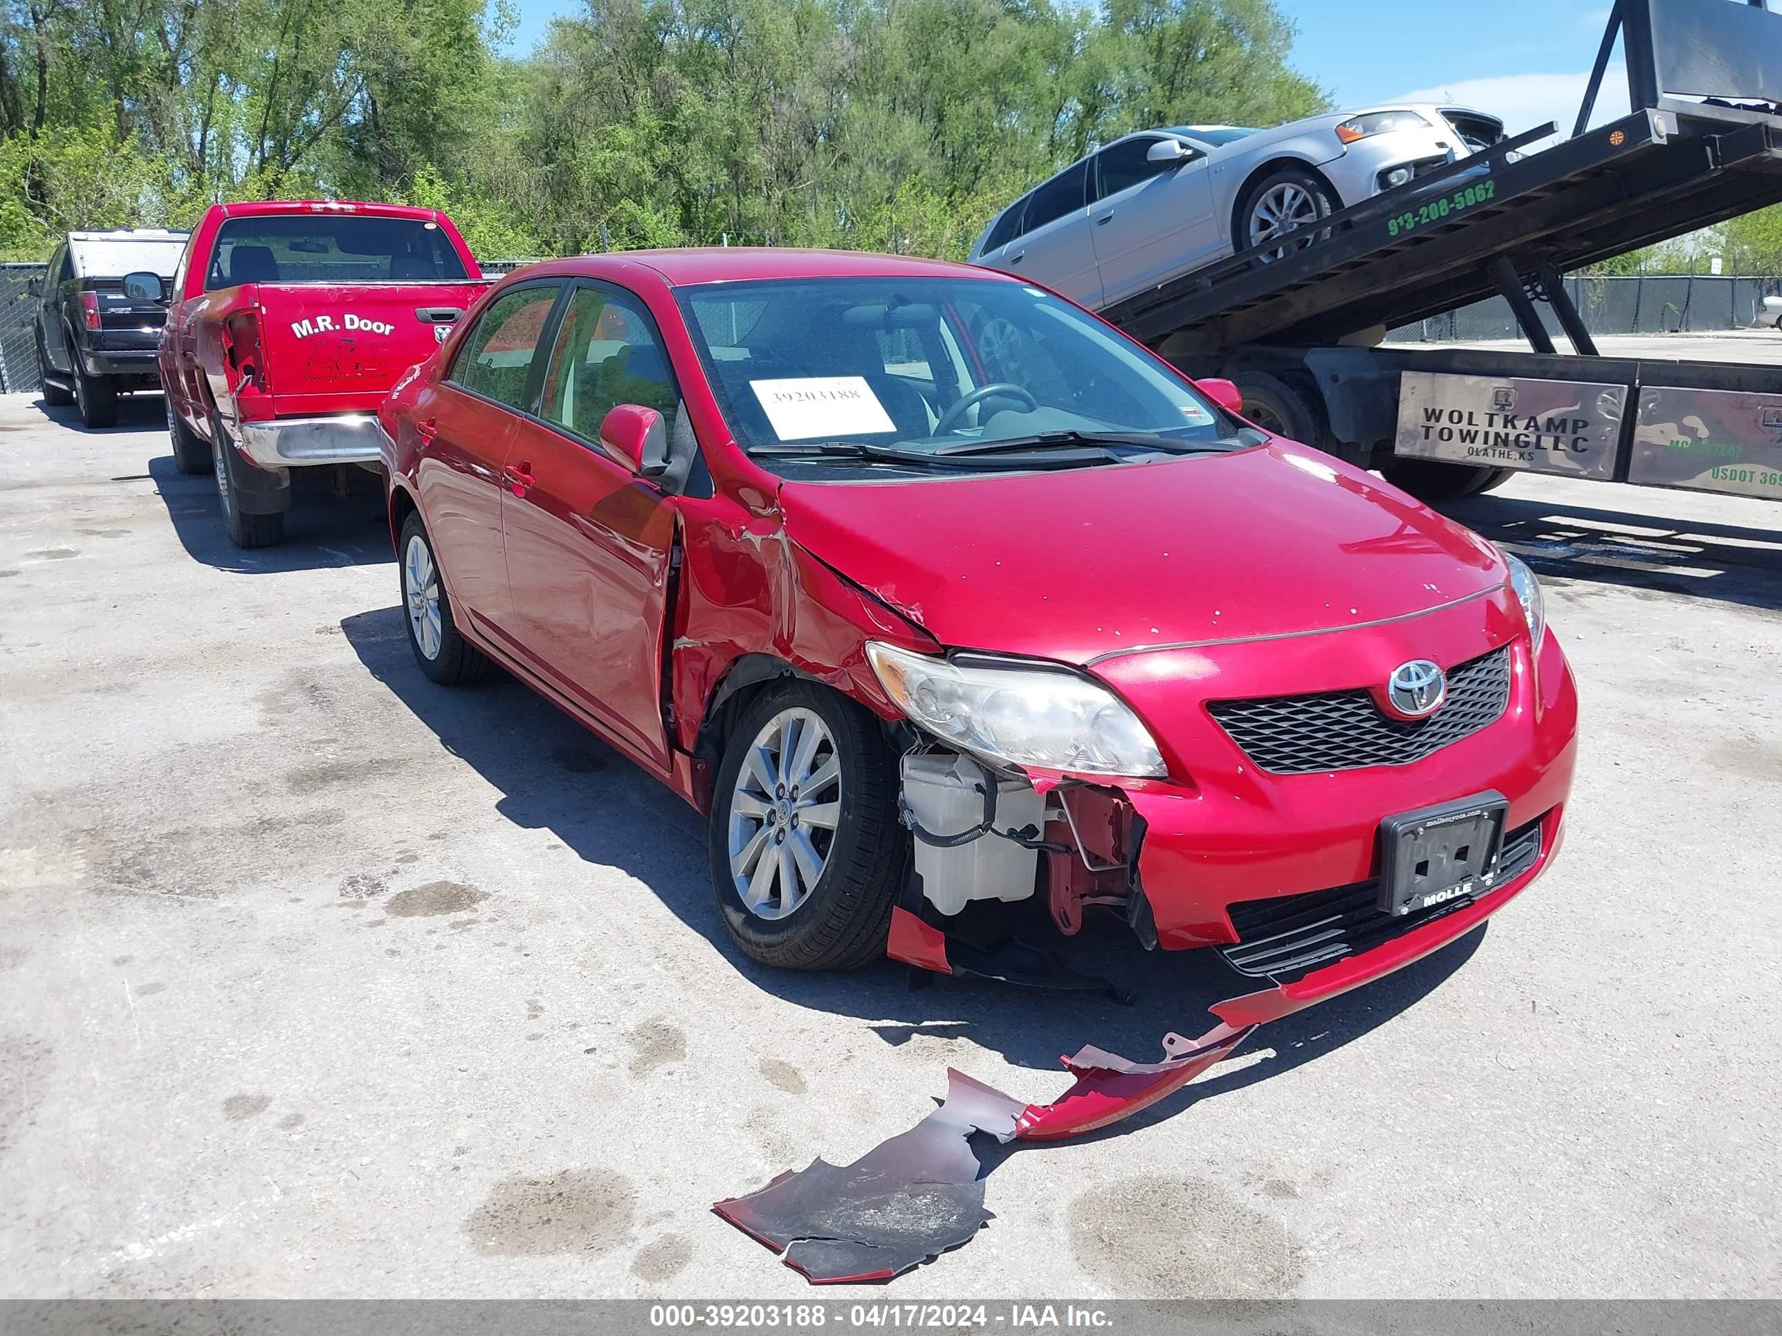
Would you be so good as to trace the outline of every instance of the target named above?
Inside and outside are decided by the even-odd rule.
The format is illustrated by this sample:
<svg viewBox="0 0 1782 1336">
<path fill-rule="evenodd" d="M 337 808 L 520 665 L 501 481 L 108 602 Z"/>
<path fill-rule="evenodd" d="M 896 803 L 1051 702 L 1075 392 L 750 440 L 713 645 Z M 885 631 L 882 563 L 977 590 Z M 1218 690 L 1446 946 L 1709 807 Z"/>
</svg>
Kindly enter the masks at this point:
<svg viewBox="0 0 1782 1336">
<path fill-rule="evenodd" d="M 748 745 L 731 791 L 731 880 L 748 912 L 797 912 L 841 823 L 841 755 L 816 711 L 782 709 Z"/>
</svg>

